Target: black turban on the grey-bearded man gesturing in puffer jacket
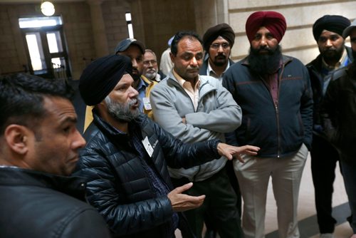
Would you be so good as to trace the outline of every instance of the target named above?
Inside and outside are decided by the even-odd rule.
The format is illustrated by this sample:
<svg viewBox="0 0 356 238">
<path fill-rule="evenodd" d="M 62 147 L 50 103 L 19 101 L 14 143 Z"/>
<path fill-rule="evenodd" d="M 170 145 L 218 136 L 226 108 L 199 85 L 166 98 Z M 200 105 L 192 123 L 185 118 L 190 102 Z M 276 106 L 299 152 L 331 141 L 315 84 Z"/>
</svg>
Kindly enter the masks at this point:
<svg viewBox="0 0 356 238">
<path fill-rule="evenodd" d="M 131 59 L 110 55 L 91 62 L 79 79 L 79 92 L 86 105 L 97 105 L 109 95 L 122 76 L 132 73 Z"/>
</svg>

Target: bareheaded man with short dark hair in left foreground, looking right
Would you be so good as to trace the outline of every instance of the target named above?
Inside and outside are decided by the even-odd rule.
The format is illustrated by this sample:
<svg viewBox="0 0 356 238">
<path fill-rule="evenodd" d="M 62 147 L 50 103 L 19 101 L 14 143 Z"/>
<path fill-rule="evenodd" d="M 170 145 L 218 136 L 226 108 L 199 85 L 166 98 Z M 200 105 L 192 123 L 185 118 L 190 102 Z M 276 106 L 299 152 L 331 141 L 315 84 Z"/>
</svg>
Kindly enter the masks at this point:
<svg viewBox="0 0 356 238">
<path fill-rule="evenodd" d="M 85 145 L 68 86 L 20 74 L 0 88 L 0 237 L 110 237 L 85 180 L 68 177 Z"/>
</svg>

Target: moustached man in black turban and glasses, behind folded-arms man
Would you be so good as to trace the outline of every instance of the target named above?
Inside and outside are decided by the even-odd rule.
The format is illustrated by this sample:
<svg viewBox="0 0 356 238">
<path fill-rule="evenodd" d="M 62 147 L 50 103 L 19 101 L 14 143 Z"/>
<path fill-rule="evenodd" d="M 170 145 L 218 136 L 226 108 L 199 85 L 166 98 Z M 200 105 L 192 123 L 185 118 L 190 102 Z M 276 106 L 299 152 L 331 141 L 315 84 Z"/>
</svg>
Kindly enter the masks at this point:
<svg viewBox="0 0 356 238">
<path fill-rule="evenodd" d="M 222 82 L 224 72 L 234 63 L 230 59 L 234 42 L 235 33 L 228 24 L 218 24 L 207 29 L 203 36 L 206 56 L 199 74 L 218 78 Z"/>
</svg>

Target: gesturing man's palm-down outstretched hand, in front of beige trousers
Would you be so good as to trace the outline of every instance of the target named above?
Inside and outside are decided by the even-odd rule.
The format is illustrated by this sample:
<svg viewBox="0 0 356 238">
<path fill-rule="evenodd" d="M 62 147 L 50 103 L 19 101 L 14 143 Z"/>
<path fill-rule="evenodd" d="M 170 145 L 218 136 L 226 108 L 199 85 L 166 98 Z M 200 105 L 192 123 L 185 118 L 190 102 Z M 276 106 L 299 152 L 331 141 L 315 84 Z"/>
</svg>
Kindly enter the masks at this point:
<svg viewBox="0 0 356 238">
<path fill-rule="evenodd" d="M 219 155 L 225 156 L 228 160 L 232 160 L 236 157 L 240 162 L 244 162 L 241 154 L 257 155 L 258 150 L 260 150 L 260 148 L 253 145 L 232 146 L 225 143 L 218 144 Z"/>
</svg>

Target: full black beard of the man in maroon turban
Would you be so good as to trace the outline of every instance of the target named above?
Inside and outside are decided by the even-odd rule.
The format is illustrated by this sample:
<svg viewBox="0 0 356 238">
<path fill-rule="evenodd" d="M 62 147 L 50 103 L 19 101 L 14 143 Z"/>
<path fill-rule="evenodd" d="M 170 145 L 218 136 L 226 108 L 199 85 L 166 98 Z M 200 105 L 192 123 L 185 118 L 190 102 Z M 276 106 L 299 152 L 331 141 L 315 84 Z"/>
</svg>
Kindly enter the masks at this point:
<svg viewBox="0 0 356 238">
<path fill-rule="evenodd" d="M 251 70 L 261 75 L 276 73 L 282 58 L 281 46 L 278 45 L 276 49 L 265 49 L 268 50 L 267 54 L 258 53 L 260 50 L 250 47 L 248 64 Z"/>
</svg>

